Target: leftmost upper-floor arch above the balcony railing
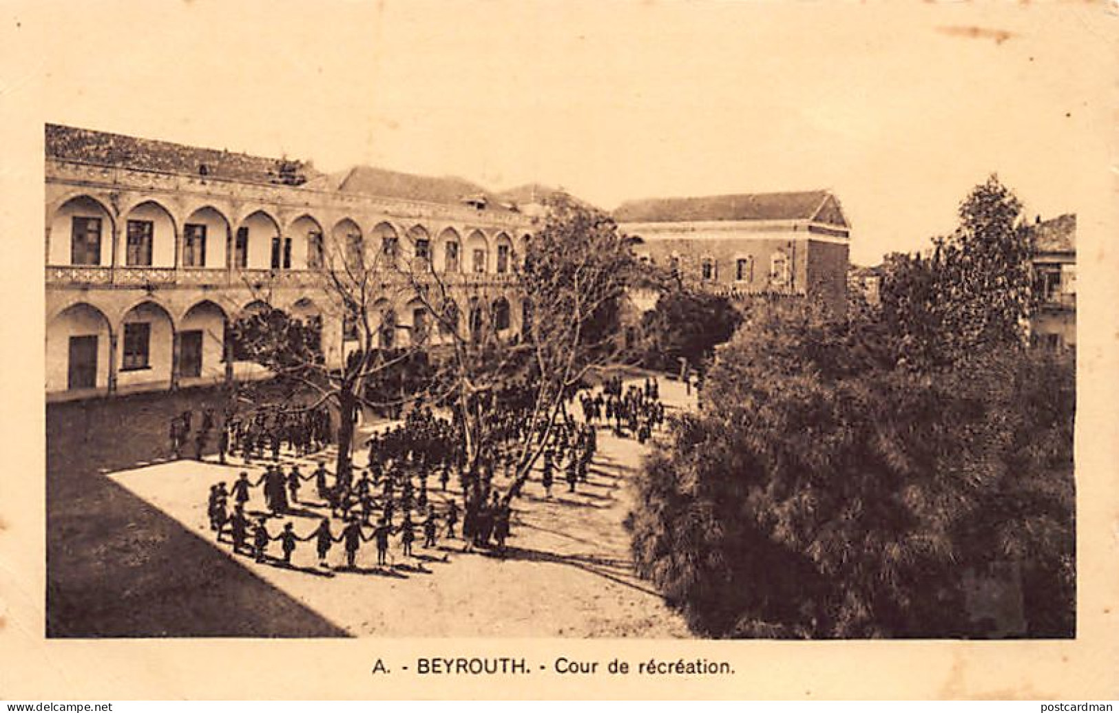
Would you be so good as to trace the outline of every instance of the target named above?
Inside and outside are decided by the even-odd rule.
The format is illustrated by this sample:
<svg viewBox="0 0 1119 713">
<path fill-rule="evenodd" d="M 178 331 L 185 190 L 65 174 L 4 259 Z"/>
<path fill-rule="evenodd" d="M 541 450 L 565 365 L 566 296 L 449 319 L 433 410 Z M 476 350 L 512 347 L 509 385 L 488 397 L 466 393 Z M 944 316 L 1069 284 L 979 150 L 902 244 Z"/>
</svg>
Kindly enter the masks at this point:
<svg viewBox="0 0 1119 713">
<path fill-rule="evenodd" d="M 50 212 L 47 226 L 48 264 L 113 264 L 116 219 L 104 201 L 88 193 L 70 196 Z"/>
</svg>

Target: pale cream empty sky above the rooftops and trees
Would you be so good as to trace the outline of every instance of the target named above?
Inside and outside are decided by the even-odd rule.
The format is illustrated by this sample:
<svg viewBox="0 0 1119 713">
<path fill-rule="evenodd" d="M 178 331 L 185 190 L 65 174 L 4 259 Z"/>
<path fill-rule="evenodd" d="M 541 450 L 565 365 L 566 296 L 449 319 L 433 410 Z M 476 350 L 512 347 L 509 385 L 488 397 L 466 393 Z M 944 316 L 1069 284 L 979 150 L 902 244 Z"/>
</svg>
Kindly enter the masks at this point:
<svg viewBox="0 0 1119 713">
<path fill-rule="evenodd" d="M 627 199 L 829 189 L 852 260 L 950 231 L 997 172 L 1076 212 L 1108 158 L 1092 3 L 28 3 L 44 121 Z M 1101 72 L 1101 69 L 1111 70 Z"/>
</svg>

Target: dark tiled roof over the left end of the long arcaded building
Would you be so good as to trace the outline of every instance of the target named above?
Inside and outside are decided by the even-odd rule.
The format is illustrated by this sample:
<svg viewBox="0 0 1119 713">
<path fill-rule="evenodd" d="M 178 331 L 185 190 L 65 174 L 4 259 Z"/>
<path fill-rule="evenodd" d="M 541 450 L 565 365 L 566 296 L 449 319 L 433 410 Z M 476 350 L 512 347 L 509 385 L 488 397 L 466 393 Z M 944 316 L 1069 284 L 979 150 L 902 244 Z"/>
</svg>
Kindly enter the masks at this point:
<svg viewBox="0 0 1119 713">
<path fill-rule="evenodd" d="M 199 149 L 58 124 L 46 125 L 46 149 L 47 156 L 54 159 L 254 183 L 298 186 L 321 175 L 302 161 Z"/>
</svg>

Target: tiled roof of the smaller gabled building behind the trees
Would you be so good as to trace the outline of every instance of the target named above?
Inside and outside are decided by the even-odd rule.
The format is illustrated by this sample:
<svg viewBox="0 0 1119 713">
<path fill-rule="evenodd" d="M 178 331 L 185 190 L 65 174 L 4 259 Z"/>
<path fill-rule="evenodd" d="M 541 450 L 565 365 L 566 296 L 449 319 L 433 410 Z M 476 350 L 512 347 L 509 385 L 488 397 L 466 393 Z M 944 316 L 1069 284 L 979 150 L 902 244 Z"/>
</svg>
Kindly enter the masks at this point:
<svg viewBox="0 0 1119 713">
<path fill-rule="evenodd" d="M 651 198 L 622 203 L 614 211 L 614 219 L 619 222 L 810 220 L 821 212 L 825 201 L 830 203 L 835 199 L 827 191 Z"/>
</svg>

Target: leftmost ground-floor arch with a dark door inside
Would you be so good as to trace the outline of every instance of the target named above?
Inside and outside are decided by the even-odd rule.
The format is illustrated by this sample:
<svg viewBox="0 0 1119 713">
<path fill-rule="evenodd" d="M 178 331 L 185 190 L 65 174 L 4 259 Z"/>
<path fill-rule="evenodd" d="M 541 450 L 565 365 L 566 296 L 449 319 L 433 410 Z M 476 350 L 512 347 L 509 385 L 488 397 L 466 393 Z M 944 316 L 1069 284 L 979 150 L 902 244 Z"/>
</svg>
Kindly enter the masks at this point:
<svg viewBox="0 0 1119 713">
<path fill-rule="evenodd" d="M 48 393 L 109 386 L 113 324 L 85 301 L 73 302 L 47 320 Z"/>
</svg>

